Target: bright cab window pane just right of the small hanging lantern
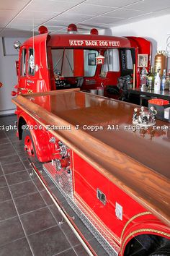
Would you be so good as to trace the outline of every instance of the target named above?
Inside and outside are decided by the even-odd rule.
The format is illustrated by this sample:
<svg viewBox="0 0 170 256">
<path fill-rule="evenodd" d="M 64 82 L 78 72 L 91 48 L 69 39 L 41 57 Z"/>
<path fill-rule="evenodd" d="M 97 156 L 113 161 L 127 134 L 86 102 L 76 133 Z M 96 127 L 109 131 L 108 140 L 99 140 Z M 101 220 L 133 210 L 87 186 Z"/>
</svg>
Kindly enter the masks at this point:
<svg viewBox="0 0 170 256">
<path fill-rule="evenodd" d="M 104 64 L 102 65 L 101 74 L 106 74 L 106 72 L 108 71 L 120 71 L 120 59 L 118 49 L 107 49 L 107 51 L 104 52 Z"/>
</svg>

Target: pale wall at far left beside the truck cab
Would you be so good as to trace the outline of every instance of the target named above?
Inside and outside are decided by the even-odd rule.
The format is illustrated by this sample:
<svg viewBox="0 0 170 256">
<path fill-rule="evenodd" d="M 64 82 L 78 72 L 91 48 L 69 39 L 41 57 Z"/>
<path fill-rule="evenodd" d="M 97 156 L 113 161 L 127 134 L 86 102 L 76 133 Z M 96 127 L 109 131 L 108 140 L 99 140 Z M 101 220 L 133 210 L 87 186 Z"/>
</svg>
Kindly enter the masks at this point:
<svg viewBox="0 0 170 256">
<path fill-rule="evenodd" d="M 13 43 L 16 38 L 7 39 L 8 44 L 11 43 L 11 46 L 13 47 Z M 23 42 L 24 40 L 25 38 L 22 38 L 21 41 Z M 6 52 L 6 54 L 8 54 L 8 52 Z M 17 50 L 14 52 L 14 54 L 17 55 L 4 56 L 2 38 L 0 38 L 0 82 L 3 83 L 3 86 L 0 88 L 0 116 L 4 114 L 12 114 L 16 108 L 16 106 L 12 103 L 11 92 L 12 90 L 16 90 L 14 89 L 14 85 L 17 84 L 17 74 L 15 68 L 15 61 L 18 60 Z"/>
</svg>

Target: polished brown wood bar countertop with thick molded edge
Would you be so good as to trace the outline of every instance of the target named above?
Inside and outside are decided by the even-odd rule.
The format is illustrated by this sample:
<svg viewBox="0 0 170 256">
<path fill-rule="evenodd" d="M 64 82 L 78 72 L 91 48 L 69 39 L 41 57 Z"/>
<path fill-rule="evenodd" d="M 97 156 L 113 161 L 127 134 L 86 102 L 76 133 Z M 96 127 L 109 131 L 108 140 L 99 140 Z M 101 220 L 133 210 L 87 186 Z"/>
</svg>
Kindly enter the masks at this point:
<svg viewBox="0 0 170 256">
<path fill-rule="evenodd" d="M 169 225 L 169 123 L 135 130 L 135 105 L 78 90 L 19 95 L 13 102 L 44 127 L 69 126 L 50 132 Z"/>
</svg>

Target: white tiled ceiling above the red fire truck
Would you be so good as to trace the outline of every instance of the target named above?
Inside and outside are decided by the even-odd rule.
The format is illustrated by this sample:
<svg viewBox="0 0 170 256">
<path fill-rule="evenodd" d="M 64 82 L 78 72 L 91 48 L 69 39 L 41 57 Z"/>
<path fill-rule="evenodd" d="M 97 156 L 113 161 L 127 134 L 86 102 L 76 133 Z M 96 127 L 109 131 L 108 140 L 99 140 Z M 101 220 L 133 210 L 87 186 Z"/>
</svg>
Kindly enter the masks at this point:
<svg viewBox="0 0 170 256">
<path fill-rule="evenodd" d="M 75 23 L 79 32 L 104 29 L 170 14 L 170 0 L 3 0 L 0 36 L 27 37 L 40 25 L 50 33 L 66 33 Z"/>
</svg>

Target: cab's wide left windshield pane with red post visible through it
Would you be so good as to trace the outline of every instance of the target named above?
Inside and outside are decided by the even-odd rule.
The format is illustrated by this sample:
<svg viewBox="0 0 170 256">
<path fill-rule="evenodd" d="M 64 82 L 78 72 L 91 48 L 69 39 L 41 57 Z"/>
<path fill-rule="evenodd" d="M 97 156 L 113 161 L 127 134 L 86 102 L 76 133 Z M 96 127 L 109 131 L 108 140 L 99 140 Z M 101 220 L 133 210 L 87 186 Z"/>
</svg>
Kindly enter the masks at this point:
<svg viewBox="0 0 170 256">
<path fill-rule="evenodd" d="M 89 49 L 52 49 L 54 74 L 63 77 L 94 77 L 98 51 Z"/>
</svg>

